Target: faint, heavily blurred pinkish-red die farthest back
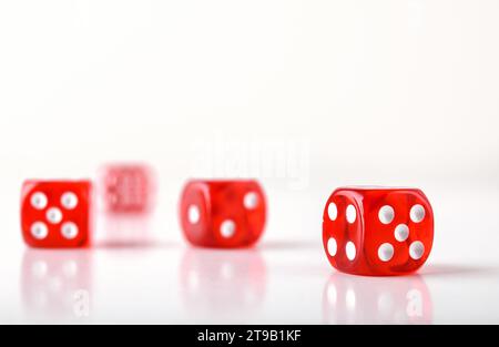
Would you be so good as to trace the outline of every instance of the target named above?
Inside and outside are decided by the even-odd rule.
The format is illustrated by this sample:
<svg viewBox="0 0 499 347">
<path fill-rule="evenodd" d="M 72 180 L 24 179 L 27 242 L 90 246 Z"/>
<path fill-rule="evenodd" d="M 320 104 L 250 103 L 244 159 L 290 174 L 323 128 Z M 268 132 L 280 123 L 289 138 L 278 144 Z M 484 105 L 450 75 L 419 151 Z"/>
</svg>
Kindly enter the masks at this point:
<svg viewBox="0 0 499 347">
<path fill-rule="evenodd" d="M 102 197 L 111 213 L 144 213 L 152 205 L 151 169 L 141 164 L 108 165 L 102 174 Z"/>
</svg>

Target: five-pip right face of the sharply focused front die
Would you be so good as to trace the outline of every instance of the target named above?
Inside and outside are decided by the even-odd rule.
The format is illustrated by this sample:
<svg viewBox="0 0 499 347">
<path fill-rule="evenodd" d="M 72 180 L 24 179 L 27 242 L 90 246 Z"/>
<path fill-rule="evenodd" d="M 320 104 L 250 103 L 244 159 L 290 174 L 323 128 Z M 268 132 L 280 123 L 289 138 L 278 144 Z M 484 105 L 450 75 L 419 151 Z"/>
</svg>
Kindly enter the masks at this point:
<svg viewBox="0 0 499 347">
<path fill-rule="evenodd" d="M 434 214 L 425 194 L 419 190 L 371 191 L 364 206 L 370 272 L 404 275 L 420 268 L 434 242 Z"/>
</svg>

